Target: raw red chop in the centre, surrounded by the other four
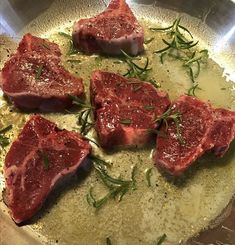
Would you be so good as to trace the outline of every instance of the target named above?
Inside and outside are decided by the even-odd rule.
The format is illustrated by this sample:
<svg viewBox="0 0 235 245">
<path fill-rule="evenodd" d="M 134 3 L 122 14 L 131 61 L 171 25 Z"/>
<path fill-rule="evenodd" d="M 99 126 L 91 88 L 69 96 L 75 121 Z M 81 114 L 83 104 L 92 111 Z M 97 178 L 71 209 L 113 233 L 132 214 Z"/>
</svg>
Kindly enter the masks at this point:
<svg viewBox="0 0 235 245">
<path fill-rule="evenodd" d="M 158 126 L 154 119 L 170 105 L 168 95 L 150 83 L 110 72 L 95 71 L 90 89 L 95 128 L 106 149 L 146 144 Z"/>
</svg>

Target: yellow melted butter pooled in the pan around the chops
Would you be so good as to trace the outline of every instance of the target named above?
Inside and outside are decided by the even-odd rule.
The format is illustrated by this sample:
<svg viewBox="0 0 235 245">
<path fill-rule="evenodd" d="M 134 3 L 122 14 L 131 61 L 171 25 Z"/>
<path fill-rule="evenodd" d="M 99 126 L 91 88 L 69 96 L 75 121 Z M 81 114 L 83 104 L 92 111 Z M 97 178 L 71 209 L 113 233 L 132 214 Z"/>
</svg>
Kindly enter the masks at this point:
<svg viewBox="0 0 235 245">
<path fill-rule="evenodd" d="M 71 25 L 71 24 L 70 24 Z M 146 45 L 146 52 L 141 55 L 141 63 L 149 57 L 152 71 L 150 77 L 161 84 L 172 100 L 187 92 L 192 83 L 182 69 L 180 62 L 166 60 L 164 65 L 159 56 L 153 54 L 162 48 L 162 34 L 148 30 L 155 23 L 144 21 L 146 38 L 154 37 L 154 41 Z M 65 32 L 70 30 L 66 28 Z M 124 74 L 127 66 L 116 64 L 117 58 L 87 56 L 81 53 L 66 55 L 69 49 L 68 39 L 57 32 L 49 36 L 51 41 L 60 45 L 62 64 L 74 75 L 83 78 L 86 91 L 89 90 L 91 71 L 104 69 Z M 68 59 L 80 60 L 80 63 L 68 62 Z M 209 100 L 215 107 L 234 109 L 234 92 L 232 83 L 222 76 L 223 70 L 212 60 L 202 68 L 198 78 L 202 90 L 197 90 L 198 97 Z M 10 112 L 13 110 L 13 113 Z M 20 113 L 5 103 L 1 107 L 1 124 L 7 125 L 14 121 L 11 139 L 17 137 L 29 115 Z M 59 127 L 72 130 L 76 127 L 76 115 L 47 114 L 43 115 L 56 122 Z M 89 135 L 95 137 L 92 131 Z M 82 181 L 74 178 L 60 191 L 51 195 L 46 206 L 34 219 L 30 227 L 46 237 L 48 244 L 105 244 L 110 237 L 112 244 L 145 245 L 156 244 L 158 237 L 167 234 L 169 244 L 187 241 L 200 230 L 208 227 L 235 192 L 235 144 L 222 159 L 211 155 L 199 159 L 185 176 L 174 184 L 167 180 L 153 167 L 151 150 L 120 150 L 105 153 L 94 146 L 94 152 L 112 161 L 110 170 L 113 176 L 130 178 L 131 166 L 137 166 L 137 190 L 128 192 L 121 202 L 110 200 L 100 210 L 94 210 L 87 204 L 86 194 L 91 185 L 95 187 L 97 196 L 104 195 L 107 190 L 93 171 Z M 4 154 L 2 154 L 1 162 Z M 146 168 L 153 167 L 151 187 L 147 187 Z M 226 176 L 226 178 L 224 178 Z M 59 193 L 59 194 L 58 194 Z"/>
</svg>

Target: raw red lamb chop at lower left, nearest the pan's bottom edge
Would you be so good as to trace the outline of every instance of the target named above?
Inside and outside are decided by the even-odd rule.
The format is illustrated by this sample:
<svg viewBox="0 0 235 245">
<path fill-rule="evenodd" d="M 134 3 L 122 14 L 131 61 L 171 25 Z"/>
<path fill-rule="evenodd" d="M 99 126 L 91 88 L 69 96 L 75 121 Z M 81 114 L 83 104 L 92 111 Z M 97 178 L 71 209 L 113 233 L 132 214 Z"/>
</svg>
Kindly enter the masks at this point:
<svg viewBox="0 0 235 245">
<path fill-rule="evenodd" d="M 6 155 L 6 202 L 16 223 L 30 219 L 58 181 L 76 172 L 89 154 L 80 135 L 41 116 L 25 124 Z"/>
</svg>

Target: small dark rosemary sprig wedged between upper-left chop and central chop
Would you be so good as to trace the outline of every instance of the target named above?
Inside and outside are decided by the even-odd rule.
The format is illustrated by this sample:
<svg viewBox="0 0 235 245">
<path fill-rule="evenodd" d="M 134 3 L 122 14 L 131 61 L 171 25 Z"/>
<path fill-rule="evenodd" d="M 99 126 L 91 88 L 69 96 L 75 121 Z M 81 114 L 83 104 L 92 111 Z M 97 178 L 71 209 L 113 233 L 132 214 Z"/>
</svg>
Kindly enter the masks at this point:
<svg viewBox="0 0 235 245">
<path fill-rule="evenodd" d="M 84 103 L 77 96 L 69 95 L 69 98 L 72 100 L 72 103 L 74 105 L 77 105 L 81 108 L 81 110 L 78 113 L 77 123 L 80 125 L 81 135 L 85 136 L 94 126 L 94 123 L 91 120 L 91 113 L 93 107 L 90 104 Z"/>
</svg>

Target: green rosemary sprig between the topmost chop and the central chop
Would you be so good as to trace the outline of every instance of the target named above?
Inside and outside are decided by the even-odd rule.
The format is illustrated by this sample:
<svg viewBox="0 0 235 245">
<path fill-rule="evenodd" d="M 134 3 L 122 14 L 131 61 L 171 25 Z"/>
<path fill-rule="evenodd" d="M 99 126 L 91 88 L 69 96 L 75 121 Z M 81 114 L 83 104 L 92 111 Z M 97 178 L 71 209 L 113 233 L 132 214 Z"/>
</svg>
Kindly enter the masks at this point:
<svg viewBox="0 0 235 245">
<path fill-rule="evenodd" d="M 145 65 L 141 67 L 135 62 L 135 60 L 137 59 L 136 57 L 129 56 L 123 50 L 122 54 L 124 55 L 124 61 L 129 66 L 129 69 L 124 74 L 124 76 L 145 81 L 149 75 L 149 72 L 152 70 L 152 68 L 149 67 L 149 58 L 146 58 Z"/>
</svg>

